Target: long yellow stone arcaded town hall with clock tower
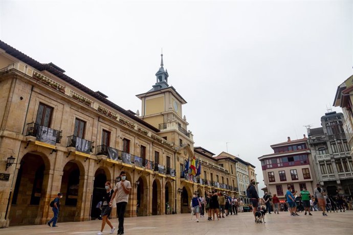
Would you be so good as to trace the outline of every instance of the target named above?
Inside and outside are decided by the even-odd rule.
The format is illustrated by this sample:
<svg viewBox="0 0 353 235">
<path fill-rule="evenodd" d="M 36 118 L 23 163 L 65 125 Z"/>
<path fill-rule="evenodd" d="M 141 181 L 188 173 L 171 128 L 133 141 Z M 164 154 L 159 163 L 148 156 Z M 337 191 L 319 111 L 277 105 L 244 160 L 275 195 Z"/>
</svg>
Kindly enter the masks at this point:
<svg viewBox="0 0 353 235">
<path fill-rule="evenodd" d="M 121 171 L 132 186 L 126 216 L 188 212 L 193 192 L 235 195 L 236 169 L 194 149 L 182 113 L 186 101 L 168 85 L 163 59 L 156 78 L 151 90 L 137 95 L 140 116 L 55 64 L 39 63 L 0 41 L 0 227 L 44 224 L 58 192 L 59 221 L 94 219 L 105 181 L 114 184 Z M 201 176 L 186 178 L 185 161 L 194 155 Z M 207 184 L 211 173 L 219 175 L 217 184 Z"/>
</svg>

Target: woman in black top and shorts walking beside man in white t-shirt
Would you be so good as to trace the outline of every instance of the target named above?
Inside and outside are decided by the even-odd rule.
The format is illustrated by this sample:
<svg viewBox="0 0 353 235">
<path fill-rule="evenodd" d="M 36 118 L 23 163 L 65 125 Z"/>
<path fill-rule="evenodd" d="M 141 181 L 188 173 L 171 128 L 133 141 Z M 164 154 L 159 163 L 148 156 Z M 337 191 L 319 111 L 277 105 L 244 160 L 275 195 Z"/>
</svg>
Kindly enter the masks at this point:
<svg viewBox="0 0 353 235">
<path fill-rule="evenodd" d="M 102 197 L 102 227 L 101 230 L 97 233 L 97 235 L 102 235 L 105 223 L 107 223 L 111 227 L 111 234 L 114 232 L 115 227 L 113 227 L 111 221 L 109 220 L 109 216 L 111 216 L 112 212 L 112 204 L 109 202 L 112 199 L 114 191 L 112 190 L 111 182 L 105 182 L 105 192 Z"/>
</svg>

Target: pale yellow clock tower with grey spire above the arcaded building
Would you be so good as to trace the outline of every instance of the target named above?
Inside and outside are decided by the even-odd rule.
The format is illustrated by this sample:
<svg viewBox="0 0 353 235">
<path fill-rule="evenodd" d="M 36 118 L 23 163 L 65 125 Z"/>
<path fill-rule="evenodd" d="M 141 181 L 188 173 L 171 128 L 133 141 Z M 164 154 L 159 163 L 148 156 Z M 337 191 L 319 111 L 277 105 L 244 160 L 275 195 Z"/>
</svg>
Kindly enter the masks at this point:
<svg viewBox="0 0 353 235">
<path fill-rule="evenodd" d="M 162 54 L 161 67 L 156 73 L 156 84 L 149 91 L 137 95 L 142 101 L 140 118 L 160 129 L 158 135 L 174 143 L 174 146 L 188 144 L 192 149 L 193 135 L 187 130 L 189 124 L 185 115 L 183 116 L 182 108 L 187 102 L 173 86 L 168 85 L 168 77 Z"/>
</svg>

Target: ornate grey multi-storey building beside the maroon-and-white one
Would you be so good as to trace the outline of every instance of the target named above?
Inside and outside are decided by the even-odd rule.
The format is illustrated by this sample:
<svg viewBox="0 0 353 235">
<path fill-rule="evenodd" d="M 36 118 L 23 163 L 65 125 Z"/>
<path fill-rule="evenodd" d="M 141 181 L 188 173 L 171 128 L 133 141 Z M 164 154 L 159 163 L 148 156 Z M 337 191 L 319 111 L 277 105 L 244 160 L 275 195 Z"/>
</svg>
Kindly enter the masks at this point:
<svg viewBox="0 0 353 235">
<path fill-rule="evenodd" d="M 353 163 L 343 113 L 328 112 L 319 128 L 307 130 L 317 181 L 329 195 L 353 193 Z"/>
</svg>

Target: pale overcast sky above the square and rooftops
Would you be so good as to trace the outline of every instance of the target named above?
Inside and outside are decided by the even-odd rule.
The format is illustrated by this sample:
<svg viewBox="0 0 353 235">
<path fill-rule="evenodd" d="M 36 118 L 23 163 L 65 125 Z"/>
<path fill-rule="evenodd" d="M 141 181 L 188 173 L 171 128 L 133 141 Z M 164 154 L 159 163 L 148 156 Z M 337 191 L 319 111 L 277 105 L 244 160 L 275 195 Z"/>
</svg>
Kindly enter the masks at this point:
<svg viewBox="0 0 353 235">
<path fill-rule="evenodd" d="M 352 75 L 352 10 L 352 1 L 2 0 L 0 39 L 134 111 L 163 47 L 194 146 L 218 154 L 229 142 L 261 189 L 257 158 L 320 127 Z"/>
</svg>

